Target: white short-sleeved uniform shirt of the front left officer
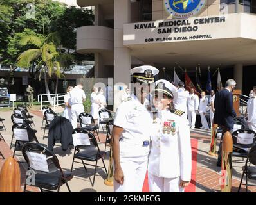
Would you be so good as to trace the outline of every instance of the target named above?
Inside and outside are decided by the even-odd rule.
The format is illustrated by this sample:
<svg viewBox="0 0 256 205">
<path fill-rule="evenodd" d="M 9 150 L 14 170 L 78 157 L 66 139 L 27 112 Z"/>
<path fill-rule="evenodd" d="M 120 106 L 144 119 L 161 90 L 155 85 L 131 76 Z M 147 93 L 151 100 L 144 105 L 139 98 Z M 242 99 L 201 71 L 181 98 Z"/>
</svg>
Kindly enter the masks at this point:
<svg viewBox="0 0 256 205">
<path fill-rule="evenodd" d="M 142 146 L 144 141 L 150 142 L 152 113 L 149 112 L 146 101 L 141 104 L 135 95 L 122 102 L 116 111 L 114 125 L 123 128 L 120 136 L 120 161 L 122 157 L 147 156 L 149 145 Z"/>
</svg>

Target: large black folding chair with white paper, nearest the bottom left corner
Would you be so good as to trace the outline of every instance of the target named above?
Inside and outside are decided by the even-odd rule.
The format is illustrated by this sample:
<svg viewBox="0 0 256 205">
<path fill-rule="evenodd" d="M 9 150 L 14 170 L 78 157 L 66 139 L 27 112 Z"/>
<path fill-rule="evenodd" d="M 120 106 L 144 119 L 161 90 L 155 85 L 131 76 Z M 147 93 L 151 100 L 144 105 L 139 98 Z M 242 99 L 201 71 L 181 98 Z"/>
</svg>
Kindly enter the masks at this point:
<svg viewBox="0 0 256 205">
<path fill-rule="evenodd" d="M 36 186 L 40 188 L 41 192 L 53 192 L 51 190 L 57 190 L 57 192 L 59 192 L 60 186 L 66 184 L 68 191 L 71 192 L 68 181 L 73 178 L 73 173 L 62 171 L 57 156 L 52 151 L 50 151 L 46 145 L 28 142 L 23 145 L 22 152 L 26 163 L 28 163 L 28 170 L 32 170 L 32 172 L 35 173 L 34 184 L 29 184 L 30 186 Z M 28 152 L 45 155 L 48 170 L 45 170 L 45 168 L 41 168 L 41 170 L 39 170 L 39 168 L 36 169 L 33 167 L 33 158 L 30 158 Z M 27 184 L 25 181 L 23 192 L 29 192 L 26 190 L 26 186 Z"/>
</svg>

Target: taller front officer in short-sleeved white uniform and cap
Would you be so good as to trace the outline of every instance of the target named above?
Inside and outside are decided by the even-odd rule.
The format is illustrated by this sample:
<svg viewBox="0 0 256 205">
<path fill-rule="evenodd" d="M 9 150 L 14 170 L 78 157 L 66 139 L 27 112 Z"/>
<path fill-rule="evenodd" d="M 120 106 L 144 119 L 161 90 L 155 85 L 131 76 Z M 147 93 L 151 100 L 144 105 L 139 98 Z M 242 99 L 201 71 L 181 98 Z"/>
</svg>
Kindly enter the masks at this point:
<svg viewBox="0 0 256 205">
<path fill-rule="evenodd" d="M 149 83 L 154 83 L 158 72 L 155 67 L 147 65 L 131 69 L 134 94 L 118 107 L 111 138 L 114 192 L 142 192 L 152 125 L 152 113 L 145 97 L 149 96 Z M 141 84 L 142 88 L 136 84 Z"/>
</svg>

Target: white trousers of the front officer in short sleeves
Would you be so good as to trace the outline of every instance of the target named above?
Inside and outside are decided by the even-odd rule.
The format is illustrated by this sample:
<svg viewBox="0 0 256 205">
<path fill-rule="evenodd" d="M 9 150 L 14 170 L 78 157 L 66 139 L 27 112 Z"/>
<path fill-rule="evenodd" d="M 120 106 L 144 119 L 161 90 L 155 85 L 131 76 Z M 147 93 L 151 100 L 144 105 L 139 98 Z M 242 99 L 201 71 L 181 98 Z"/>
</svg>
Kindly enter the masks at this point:
<svg viewBox="0 0 256 205">
<path fill-rule="evenodd" d="M 147 172 L 148 156 L 138 158 L 122 158 L 120 164 L 123 170 L 123 185 L 114 180 L 114 192 L 142 192 Z"/>
</svg>

